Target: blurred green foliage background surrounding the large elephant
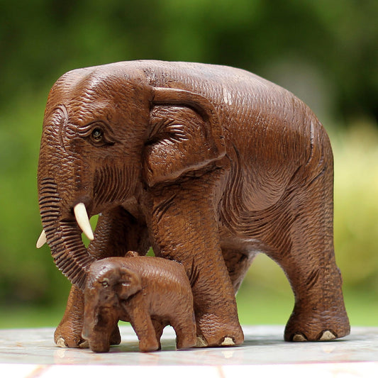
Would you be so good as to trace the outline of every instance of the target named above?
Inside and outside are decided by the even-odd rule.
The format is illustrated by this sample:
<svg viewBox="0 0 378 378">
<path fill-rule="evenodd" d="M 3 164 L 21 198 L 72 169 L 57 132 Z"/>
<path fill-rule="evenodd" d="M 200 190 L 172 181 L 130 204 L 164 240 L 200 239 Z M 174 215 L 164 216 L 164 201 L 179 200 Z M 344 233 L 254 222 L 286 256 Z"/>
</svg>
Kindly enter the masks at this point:
<svg viewBox="0 0 378 378">
<path fill-rule="evenodd" d="M 1 0 L 0 307 L 64 306 L 70 287 L 49 249 L 35 249 L 48 90 L 68 70 L 133 59 L 241 67 L 311 106 L 335 153 L 335 248 L 345 289 L 377 295 L 377 16 L 376 0 Z M 274 264 L 255 265 L 245 287 L 291 296 Z"/>
</svg>

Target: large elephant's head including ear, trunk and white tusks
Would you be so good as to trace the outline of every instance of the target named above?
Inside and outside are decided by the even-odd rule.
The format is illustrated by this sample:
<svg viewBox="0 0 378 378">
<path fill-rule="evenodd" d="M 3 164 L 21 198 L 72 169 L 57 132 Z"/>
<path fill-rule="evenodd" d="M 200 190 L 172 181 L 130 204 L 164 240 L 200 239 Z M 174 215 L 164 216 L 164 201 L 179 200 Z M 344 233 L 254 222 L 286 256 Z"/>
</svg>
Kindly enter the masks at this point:
<svg viewBox="0 0 378 378">
<path fill-rule="evenodd" d="M 184 89 L 154 87 L 132 62 L 74 70 L 52 87 L 43 122 L 38 196 L 57 267 L 84 289 L 94 258 L 88 219 L 174 182 L 226 154 L 213 104 Z"/>
</svg>

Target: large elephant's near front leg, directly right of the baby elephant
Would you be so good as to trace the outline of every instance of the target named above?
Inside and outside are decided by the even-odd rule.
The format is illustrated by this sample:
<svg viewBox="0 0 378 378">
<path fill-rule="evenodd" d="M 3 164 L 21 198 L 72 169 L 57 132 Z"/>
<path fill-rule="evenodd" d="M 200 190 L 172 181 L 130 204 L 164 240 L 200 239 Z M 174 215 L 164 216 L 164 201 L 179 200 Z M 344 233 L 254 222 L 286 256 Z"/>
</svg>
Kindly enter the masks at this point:
<svg viewBox="0 0 378 378">
<path fill-rule="evenodd" d="M 166 191 L 155 197 L 151 229 L 160 257 L 184 265 L 194 296 L 197 346 L 239 345 L 243 330 L 219 244 L 211 189 Z"/>
</svg>

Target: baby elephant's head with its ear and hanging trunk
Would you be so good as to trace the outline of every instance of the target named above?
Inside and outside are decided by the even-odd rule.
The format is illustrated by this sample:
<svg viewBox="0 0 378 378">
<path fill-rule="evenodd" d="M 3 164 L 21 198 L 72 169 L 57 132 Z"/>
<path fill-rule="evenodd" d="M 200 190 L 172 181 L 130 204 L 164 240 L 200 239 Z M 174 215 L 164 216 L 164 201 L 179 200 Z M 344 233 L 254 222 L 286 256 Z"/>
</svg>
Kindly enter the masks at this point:
<svg viewBox="0 0 378 378">
<path fill-rule="evenodd" d="M 82 337 L 94 352 L 107 352 L 111 335 L 124 313 L 121 301 L 142 289 L 140 275 L 104 259 L 89 269 L 84 290 L 84 326 Z"/>
</svg>

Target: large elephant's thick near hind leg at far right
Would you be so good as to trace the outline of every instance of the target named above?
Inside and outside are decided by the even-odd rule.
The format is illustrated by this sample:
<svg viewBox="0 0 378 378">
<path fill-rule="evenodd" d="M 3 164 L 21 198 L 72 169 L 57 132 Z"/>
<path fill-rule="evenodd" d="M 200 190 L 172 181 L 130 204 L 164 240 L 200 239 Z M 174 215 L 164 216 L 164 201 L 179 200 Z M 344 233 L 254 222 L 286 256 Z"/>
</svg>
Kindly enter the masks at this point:
<svg viewBox="0 0 378 378">
<path fill-rule="evenodd" d="M 323 171 L 298 191 L 291 209 L 278 222 L 289 226 L 282 226 L 284 232 L 276 242 L 279 252 L 271 257 L 284 269 L 295 296 L 284 339 L 315 341 L 348 335 L 350 325 L 333 248 L 331 172 Z"/>
</svg>

